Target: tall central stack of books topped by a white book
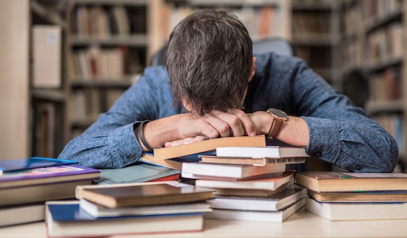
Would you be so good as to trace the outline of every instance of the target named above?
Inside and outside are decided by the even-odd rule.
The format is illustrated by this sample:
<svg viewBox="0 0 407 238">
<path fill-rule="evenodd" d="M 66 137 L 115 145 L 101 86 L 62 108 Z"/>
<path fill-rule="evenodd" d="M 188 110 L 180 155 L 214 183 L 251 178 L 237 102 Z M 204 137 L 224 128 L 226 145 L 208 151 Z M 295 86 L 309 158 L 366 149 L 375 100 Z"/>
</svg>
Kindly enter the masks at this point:
<svg viewBox="0 0 407 238">
<path fill-rule="evenodd" d="M 304 206 L 306 189 L 293 185 L 286 164 L 304 163 L 305 148 L 218 147 L 216 155 L 184 162 L 182 178 L 215 189 L 209 219 L 282 222 Z"/>
</svg>

